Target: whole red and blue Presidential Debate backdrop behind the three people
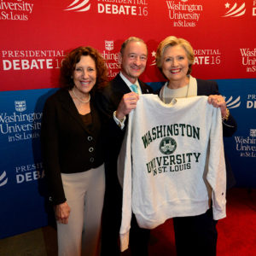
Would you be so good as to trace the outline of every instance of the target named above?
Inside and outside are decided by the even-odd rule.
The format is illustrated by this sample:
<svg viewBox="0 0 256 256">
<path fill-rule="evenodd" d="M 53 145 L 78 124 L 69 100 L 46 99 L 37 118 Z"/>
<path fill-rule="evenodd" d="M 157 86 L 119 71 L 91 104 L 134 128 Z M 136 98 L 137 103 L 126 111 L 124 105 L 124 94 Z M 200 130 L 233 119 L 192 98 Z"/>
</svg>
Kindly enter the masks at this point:
<svg viewBox="0 0 256 256">
<path fill-rule="evenodd" d="M 195 49 L 192 75 L 215 79 L 238 130 L 224 140 L 236 185 L 256 187 L 256 1 L 1 0 L 0 238 L 49 223 L 40 126 L 46 98 L 58 87 L 61 60 L 90 45 L 119 72 L 122 42 L 143 38 L 148 67 L 141 79 L 164 81 L 155 50 L 170 35 Z"/>
</svg>

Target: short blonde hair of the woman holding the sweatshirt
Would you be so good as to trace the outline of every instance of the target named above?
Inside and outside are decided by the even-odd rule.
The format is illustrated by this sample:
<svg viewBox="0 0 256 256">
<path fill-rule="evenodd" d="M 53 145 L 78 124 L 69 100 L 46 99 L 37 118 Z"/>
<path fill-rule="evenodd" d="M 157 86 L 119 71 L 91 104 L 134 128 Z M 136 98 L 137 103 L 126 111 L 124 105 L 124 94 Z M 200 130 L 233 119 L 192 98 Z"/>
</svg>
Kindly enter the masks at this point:
<svg viewBox="0 0 256 256">
<path fill-rule="evenodd" d="M 172 47 L 175 45 L 180 45 L 185 50 L 189 60 L 189 70 L 187 74 L 190 74 L 192 71 L 192 65 L 194 64 L 195 61 L 195 55 L 194 50 L 189 41 L 183 38 L 176 38 L 174 36 L 170 36 L 165 38 L 162 42 L 160 42 L 156 50 L 156 66 L 160 69 L 160 72 L 162 73 L 163 55 L 165 53 L 165 50 L 168 47 Z"/>
</svg>

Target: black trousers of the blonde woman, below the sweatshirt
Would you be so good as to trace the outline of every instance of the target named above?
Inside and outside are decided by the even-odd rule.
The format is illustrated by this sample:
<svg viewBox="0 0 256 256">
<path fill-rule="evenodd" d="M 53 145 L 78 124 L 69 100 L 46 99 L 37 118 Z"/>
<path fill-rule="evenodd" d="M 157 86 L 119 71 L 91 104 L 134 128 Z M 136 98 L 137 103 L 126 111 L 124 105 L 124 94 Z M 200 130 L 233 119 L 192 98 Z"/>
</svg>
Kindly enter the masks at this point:
<svg viewBox="0 0 256 256">
<path fill-rule="evenodd" d="M 216 224 L 212 208 L 198 216 L 173 218 L 177 256 L 215 256 Z"/>
</svg>

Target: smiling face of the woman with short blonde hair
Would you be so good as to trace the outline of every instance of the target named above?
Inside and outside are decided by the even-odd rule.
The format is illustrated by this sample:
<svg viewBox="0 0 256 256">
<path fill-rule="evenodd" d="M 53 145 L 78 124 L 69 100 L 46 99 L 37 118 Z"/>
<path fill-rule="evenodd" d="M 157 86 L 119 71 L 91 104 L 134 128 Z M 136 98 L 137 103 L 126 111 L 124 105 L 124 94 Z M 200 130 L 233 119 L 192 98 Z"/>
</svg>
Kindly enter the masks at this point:
<svg viewBox="0 0 256 256">
<path fill-rule="evenodd" d="M 176 82 L 178 87 L 188 83 L 187 73 L 189 70 L 189 59 L 185 49 L 180 45 L 166 48 L 162 57 L 162 72 L 169 80 L 169 84 Z"/>
</svg>

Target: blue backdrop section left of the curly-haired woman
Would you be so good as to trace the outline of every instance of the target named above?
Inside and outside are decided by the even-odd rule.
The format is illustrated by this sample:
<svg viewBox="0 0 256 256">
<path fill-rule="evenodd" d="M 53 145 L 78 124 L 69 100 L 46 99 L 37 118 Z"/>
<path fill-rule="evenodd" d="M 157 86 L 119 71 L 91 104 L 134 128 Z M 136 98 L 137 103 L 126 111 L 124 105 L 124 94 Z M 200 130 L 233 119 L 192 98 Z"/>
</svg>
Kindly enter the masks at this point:
<svg viewBox="0 0 256 256">
<path fill-rule="evenodd" d="M 39 136 L 53 91 L 0 93 L 0 238 L 48 224 Z"/>
</svg>

